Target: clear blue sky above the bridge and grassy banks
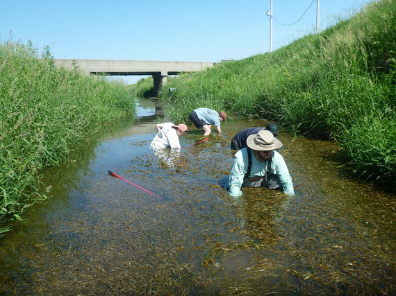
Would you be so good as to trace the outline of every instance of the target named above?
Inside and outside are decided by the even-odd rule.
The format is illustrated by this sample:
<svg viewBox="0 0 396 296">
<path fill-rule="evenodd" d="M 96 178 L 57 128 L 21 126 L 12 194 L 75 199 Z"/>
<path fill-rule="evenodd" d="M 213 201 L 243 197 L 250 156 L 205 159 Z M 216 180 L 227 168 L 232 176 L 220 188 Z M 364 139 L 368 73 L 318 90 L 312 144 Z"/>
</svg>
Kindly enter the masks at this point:
<svg viewBox="0 0 396 296">
<path fill-rule="evenodd" d="M 320 29 L 369 2 L 320 0 Z M 315 33 L 316 6 L 317 0 L 272 1 L 273 51 Z M 240 60 L 270 51 L 267 10 L 270 0 L 0 0 L 0 37 L 49 46 L 54 58 Z"/>
</svg>

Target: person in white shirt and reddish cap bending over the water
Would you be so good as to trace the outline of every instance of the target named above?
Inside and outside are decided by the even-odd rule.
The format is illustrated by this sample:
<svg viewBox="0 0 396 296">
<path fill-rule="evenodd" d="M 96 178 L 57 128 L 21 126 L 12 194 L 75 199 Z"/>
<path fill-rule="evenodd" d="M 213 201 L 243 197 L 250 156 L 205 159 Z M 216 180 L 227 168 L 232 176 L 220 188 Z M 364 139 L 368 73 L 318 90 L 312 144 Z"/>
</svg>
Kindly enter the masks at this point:
<svg viewBox="0 0 396 296">
<path fill-rule="evenodd" d="M 150 143 L 151 149 L 181 148 L 179 137 L 187 133 L 187 125 L 183 123 L 174 125 L 172 122 L 167 122 L 158 123 L 156 128 L 158 132 Z"/>
</svg>

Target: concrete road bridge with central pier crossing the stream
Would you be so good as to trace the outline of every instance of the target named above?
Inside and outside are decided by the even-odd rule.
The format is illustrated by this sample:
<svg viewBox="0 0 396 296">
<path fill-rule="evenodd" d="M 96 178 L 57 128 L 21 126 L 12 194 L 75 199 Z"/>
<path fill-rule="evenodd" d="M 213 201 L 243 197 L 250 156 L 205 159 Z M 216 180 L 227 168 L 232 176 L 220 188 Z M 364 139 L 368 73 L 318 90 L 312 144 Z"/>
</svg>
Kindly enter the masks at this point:
<svg viewBox="0 0 396 296">
<path fill-rule="evenodd" d="M 151 75 L 154 91 L 166 85 L 168 75 L 196 72 L 213 67 L 213 62 L 156 62 L 143 60 L 72 60 L 53 59 L 58 67 L 73 69 L 79 67 L 88 74 L 103 73 L 108 76 Z"/>
</svg>

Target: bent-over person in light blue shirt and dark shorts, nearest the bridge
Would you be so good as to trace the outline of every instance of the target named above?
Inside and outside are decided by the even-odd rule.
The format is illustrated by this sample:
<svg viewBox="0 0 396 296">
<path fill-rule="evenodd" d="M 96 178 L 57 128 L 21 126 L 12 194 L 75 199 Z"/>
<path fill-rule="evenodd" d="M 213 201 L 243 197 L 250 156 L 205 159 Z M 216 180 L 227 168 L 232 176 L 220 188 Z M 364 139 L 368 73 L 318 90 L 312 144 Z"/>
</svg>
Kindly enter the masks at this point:
<svg viewBox="0 0 396 296">
<path fill-rule="evenodd" d="M 226 112 L 217 112 L 209 108 L 197 108 L 190 113 L 190 119 L 194 123 L 195 128 L 200 128 L 204 136 L 211 134 L 212 124 L 216 125 L 217 134 L 222 134 L 220 121 L 226 121 Z"/>
</svg>

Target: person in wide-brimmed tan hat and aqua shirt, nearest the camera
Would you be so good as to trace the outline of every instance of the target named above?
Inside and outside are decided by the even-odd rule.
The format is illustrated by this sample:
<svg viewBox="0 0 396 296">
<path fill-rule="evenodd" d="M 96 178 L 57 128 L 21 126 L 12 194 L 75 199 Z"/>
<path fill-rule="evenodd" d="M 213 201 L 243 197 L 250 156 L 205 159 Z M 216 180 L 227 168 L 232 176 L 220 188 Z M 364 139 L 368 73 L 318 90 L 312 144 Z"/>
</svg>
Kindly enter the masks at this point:
<svg viewBox="0 0 396 296">
<path fill-rule="evenodd" d="M 283 144 L 269 130 L 247 137 L 247 147 L 233 157 L 229 176 L 229 194 L 242 195 L 241 187 L 267 187 L 283 190 L 293 195 L 292 177 L 288 167 L 276 149 Z"/>
</svg>

